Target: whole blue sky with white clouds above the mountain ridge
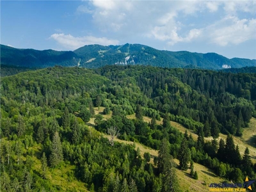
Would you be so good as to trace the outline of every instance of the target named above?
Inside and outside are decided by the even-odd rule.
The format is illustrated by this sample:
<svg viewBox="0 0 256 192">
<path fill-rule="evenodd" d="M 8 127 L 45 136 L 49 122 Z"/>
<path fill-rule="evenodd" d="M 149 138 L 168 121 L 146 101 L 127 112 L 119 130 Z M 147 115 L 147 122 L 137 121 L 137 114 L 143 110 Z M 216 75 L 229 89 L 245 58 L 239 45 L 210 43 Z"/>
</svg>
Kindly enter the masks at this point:
<svg viewBox="0 0 256 192">
<path fill-rule="evenodd" d="M 256 1 L 1 1 L 1 44 L 126 43 L 256 59 Z"/>
</svg>

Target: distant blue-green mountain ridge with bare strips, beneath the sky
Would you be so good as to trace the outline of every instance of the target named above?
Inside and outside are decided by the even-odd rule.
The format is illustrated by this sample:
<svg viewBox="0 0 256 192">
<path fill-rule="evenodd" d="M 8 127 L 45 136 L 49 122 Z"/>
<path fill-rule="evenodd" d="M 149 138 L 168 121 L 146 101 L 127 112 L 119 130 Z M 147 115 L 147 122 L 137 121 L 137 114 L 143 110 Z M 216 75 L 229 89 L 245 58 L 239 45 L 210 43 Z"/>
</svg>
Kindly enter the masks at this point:
<svg viewBox="0 0 256 192">
<path fill-rule="evenodd" d="M 1 63 L 19 67 L 97 68 L 105 65 L 152 65 L 154 67 L 222 68 L 256 67 L 256 60 L 228 59 L 214 52 L 159 51 L 147 45 L 85 45 L 75 51 L 16 49 L 1 45 Z"/>
</svg>

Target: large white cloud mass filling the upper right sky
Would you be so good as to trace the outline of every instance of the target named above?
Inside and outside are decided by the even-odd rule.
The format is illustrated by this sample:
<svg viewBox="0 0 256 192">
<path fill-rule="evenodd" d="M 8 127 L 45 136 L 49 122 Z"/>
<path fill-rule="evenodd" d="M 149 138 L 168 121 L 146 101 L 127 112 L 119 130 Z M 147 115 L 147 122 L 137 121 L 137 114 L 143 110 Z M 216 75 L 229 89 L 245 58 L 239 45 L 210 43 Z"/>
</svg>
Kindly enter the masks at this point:
<svg viewBox="0 0 256 192">
<path fill-rule="evenodd" d="M 139 36 L 166 45 L 201 40 L 221 46 L 255 39 L 256 1 L 91 0 L 87 6 L 77 10 L 92 14 L 102 33 L 124 39 Z"/>
</svg>

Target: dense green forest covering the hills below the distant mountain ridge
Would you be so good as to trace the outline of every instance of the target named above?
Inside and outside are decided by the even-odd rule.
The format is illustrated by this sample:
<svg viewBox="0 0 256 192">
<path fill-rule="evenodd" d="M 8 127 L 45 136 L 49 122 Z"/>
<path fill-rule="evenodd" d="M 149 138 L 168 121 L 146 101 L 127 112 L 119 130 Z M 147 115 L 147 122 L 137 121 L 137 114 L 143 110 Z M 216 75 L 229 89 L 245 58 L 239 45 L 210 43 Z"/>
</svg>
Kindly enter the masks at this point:
<svg viewBox="0 0 256 192">
<path fill-rule="evenodd" d="M 227 182 L 254 180 L 250 151 L 241 156 L 233 140 L 256 118 L 256 74 L 248 70 L 111 65 L 1 74 L 1 191 L 186 191 L 173 159 L 180 170 L 191 170 L 195 182 L 200 173 L 193 163 Z M 103 114 L 95 115 L 100 107 Z M 219 140 L 220 133 L 227 140 Z M 141 143 L 158 156 L 102 134 Z M 61 170 L 67 170 L 58 175 L 65 183 L 51 179 Z M 68 186 L 78 181 L 81 189 Z"/>
</svg>

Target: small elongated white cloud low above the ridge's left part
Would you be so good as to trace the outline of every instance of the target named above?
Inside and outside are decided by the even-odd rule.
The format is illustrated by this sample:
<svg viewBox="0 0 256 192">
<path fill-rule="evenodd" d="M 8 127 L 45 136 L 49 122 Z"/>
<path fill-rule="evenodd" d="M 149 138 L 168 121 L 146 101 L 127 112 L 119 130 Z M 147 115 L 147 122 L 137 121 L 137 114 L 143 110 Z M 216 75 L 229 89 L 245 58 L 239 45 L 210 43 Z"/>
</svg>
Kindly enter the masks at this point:
<svg viewBox="0 0 256 192">
<path fill-rule="evenodd" d="M 97 38 L 95 36 L 81 36 L 74 37 L 72 35 L 65 35 L 64 33 L 54 33 L 50 36 L 51 39 L 56 40 L 60 45 L 68 49 L 77 49 L 84 45 L 100 44 L 100 45 L 116 45 L 118 40 L 111 40 L 106 37 Z"/>
</svg>

